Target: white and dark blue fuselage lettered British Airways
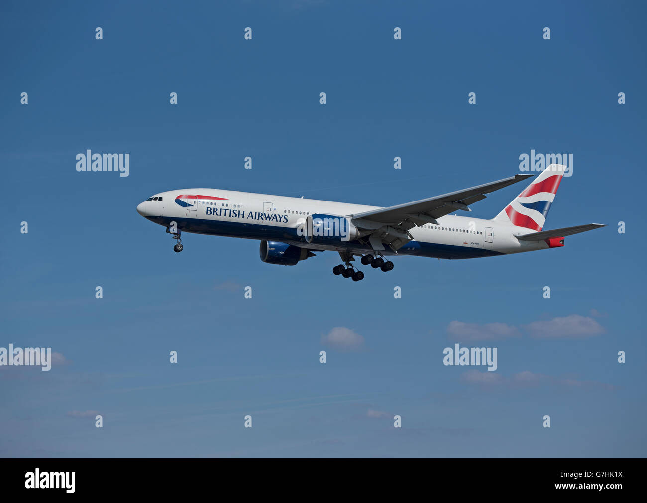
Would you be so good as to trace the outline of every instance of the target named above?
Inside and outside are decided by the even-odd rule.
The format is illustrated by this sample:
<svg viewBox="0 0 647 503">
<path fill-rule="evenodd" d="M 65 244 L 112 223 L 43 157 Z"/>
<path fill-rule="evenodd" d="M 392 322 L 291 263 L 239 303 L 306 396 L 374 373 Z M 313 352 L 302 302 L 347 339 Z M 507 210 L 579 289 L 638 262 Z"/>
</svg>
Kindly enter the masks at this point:
<svg viewBox="0 0 647 503">
<path fill-rule="evenodd" d="M 161 198 L 161 200 L 159 200 Z M 157 200 L 155 200 L 157 199 Z M 309 250 L 336 250 L 356 254 L 369 253 L 358 241 L 309 244 L 298 228 L 308 215 L 340 217 L 379 209 L 315 199 L 256 194 L 221 189 L 182 189 L 161 192 L 142 202 L 137 211 L 163 226 L 177 224 L 178 230 L 192 233 L 281 241 Z M 527 252 L 549 248 L 548 244 L 519 241 L 525 228 L 493 220 L 446 215 L 438 225 L 426 224 L 410 230 L 413 240 L 397 252 L 384 255 L 421 255 L 446 259 Z"/>
</svg>

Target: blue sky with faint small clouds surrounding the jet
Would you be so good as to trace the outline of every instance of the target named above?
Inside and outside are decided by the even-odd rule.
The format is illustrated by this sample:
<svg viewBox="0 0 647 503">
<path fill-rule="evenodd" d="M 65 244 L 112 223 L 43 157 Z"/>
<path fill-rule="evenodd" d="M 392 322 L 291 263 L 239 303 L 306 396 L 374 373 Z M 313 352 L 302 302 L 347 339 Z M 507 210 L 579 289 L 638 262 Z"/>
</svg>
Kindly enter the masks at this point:
<svg viewBox="0 0 647 503">
<path fill-rule="evenodd" d="M 2 3 L 0 347 L 60 356 L 0 368 L 0 455 L 646 454 L 645 6 L 404 4 Z M 87 149 L 130 153 L 129 177 L 76 172 Z M 135 211 L 185 187 L 390 206 L 531 149 L 574 156 L 546 228 L 607 228 L 353 283 L 329 252 L 274 266 L 257 241 L 184 235 L 174 253 Z M 358 347 L 325 344 L 334 328 Z M 444 366 L 456 342 L 497 347 L 496 372 Z"/>
</svg>

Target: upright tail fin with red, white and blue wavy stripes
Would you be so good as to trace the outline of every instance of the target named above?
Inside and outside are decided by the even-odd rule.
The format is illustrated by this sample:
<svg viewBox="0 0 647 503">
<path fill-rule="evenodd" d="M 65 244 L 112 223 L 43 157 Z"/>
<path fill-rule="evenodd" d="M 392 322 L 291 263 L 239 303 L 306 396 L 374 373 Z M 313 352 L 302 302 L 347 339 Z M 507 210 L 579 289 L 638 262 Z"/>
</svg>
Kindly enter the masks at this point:
<svg viewBox="0 0 647 503">
<path fill-rule="evenodd" d="M 551 164 L 492 220 L 541 231 L 565 171 L 564 164 Z"/>
</svg>

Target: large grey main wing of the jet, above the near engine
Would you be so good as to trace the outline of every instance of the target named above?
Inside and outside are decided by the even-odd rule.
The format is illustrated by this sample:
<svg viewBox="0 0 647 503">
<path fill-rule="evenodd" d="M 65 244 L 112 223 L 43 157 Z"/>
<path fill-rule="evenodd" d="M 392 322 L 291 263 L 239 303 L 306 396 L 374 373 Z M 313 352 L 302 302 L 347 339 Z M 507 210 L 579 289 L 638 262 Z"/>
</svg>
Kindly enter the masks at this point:
<svg viewBox="0 0 647 503">
<path fill-rule="evenodd" d="M 389 244 L 393 250 L 398 250 L 411 241 L 411 235 L 408 232 L 411 228 L 424 224 L 437 225 L 436 219 L 449 215 L 457 209 L 472 211 L 468 208 L 470 204 L 485 199 L 485 194 L 516 184 L 516 182 L 521 182 L 521 180 L 532 176 L 514 175 L 514 177 L 503 178 L 496 182 L 448 194 L 348 216 L 358 228 L 373 231 L 369 236 L 369 242 L 374 250 L 384 250 L 384 243 Z"/>
</svg>

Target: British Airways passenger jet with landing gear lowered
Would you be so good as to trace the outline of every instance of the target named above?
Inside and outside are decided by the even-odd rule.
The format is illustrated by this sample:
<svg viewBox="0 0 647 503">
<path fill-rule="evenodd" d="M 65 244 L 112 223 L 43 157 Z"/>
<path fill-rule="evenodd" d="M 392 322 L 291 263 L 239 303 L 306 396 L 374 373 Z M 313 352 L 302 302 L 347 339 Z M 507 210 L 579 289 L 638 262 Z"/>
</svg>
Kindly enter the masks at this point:
<svg viewBox="0 0 647 503">
<path fill-rule="evenodd" d="M 534 175 L 518 174 L 413 202 L 380 208 L 221 189 L 160 192 L 138 204 L 137 212 L 166 227 L 183 250 L 182 231 L 260 240 L 261 261 L 293 266 L 315 252 L 338 252 L 343 264 L 333 273 L 364 279 L 351 262 L 384 272 L 387 257 L 415 255 L 472 259 L 560 248 L 565 237 L 600 227 L 586 224 L 554 230 L 543 226 L 566 166 L 551 164 L 494 219 L 450 215 L 472 211 L 486 194 Z"/>
</svg>

